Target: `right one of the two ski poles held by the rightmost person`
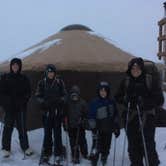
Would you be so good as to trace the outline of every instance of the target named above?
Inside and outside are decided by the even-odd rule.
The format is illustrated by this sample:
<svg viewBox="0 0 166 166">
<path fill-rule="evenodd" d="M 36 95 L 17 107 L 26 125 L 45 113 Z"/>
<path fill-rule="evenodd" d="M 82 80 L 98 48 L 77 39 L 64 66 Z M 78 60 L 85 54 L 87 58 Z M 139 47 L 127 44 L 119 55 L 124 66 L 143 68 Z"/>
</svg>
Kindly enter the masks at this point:
<svg viewBox="0 0 166 166">
<path fill-rule="evenodd" d="M 149 166 L 149 159 L 148 159 L 146 141 L 145 141 L 145 136 L 144 136 L 144 131 L 143 131 L 143 123 L 142 123 L 141 113 L 140 113 L 140 109 L 139 109 L 138 105 L 137 105 L 137 113 L 138 113 L 139 124 L 140 124 L 141 135 L 142 135 L 142 141 L 143 141 L 144 152 L 145 152 L 145 163 L 146 163 L 146 166 Z"/>
</svg>

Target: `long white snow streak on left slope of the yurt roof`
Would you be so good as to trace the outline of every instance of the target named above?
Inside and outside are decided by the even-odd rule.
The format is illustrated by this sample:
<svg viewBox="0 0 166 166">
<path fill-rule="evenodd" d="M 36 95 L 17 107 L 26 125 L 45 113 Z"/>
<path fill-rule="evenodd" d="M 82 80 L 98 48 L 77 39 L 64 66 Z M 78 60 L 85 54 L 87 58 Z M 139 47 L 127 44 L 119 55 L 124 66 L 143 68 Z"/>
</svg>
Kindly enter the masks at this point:
<svg viewBox="0 0 166 166">
<path fill-rule="evenodd" d="M 26 49 L 26 50 L 24 50 L 24 51 L 22 51 L 18 54 L 15 54 L 14 56 L 23 59 L 23 58 L 25 58 L 25 57 L 27 57 L 27 56 L 35 53 L 35 52 L 42 53 L 42 52 L 44 52 L 48 48 L 51 48 L 54 45 L 61 44 L 61 41 L 62 41 L 62 39 L 54 39 L 54 40 L 51 40 L 51 41 L 48 41 L 48 42 L 44 42 L 42 44 L 38 44 L 35 47 L 32 47 L 30 49 Z M 12 56 L 12 58 L 13 58 L 13 56 Z"/>
</svg>

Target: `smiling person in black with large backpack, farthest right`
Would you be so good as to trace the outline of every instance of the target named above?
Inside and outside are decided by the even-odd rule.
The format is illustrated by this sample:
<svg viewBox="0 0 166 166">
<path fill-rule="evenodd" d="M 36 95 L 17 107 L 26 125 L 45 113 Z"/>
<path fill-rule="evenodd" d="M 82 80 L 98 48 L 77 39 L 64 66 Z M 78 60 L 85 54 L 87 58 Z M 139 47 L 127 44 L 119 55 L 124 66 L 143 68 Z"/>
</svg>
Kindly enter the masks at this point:
<svg viewBox="0 0 166 166">
<path fill-rule="evenodd" d="M 126 78 L 121 82 L 115 98 L 119 103 L 126 106 L 122 117 L 124 118 L 125 126 L 127 123 L 128 152 L 131 166 L 143 166 L 145 154 L 137 108 L 140 108 L 141 112 L 149 165 L 158 166 L 159 159 L 154 139 L 155 109 L 163 104 L 162 90 L 160 86 L 157 86 L 156 81 L 151 81 L 152 85 L 148 86 L 150 81 L 147 79 L 148 75 L 142 58 L 132 59 L 128 64 L 126 74 Z M 151 88 L 149 89 L 148 87 Z M 127 109 L 127 106 L 130 106 L 130 108 Z M 127 110 L 129 111 L 128 121 Z"/>
</svg>

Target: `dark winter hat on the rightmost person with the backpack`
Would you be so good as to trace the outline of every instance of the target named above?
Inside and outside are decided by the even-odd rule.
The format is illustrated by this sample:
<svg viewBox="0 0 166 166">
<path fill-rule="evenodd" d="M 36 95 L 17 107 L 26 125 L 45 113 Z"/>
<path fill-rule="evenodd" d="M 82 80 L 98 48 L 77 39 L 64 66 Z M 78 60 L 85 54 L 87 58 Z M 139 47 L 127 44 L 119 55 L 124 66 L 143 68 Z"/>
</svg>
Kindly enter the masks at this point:
<svg viewBox="0 0 166 166">
<path fill-rule="evenodd" d="M 128 63 L 128 69 L 127 69 L 127 73 L 130 74 L 131 73 L 131 68 L 134 65 L 138 65 L 140 67 L 140 69 L 142 71 L 144 71 L 144 60 L 142 58 L 133 58 L 131 59 L 131 61 Z"/>
</svg>

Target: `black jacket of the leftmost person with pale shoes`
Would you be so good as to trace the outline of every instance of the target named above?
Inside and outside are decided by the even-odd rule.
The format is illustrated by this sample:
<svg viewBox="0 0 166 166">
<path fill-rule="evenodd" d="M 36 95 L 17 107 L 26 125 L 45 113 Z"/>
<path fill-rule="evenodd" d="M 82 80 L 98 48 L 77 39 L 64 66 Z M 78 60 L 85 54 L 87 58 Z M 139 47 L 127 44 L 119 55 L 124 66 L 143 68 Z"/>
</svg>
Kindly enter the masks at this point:
<svg viewBox="0 0 166 166">
<path fill-rule="evenodd" d="M 0 98 L 1 105 L 6 111 L 18 110 L 26 106 L 30 96 L 30 81 L 24 74 L 10 72 L 1 76 Z"/>
</svg>

